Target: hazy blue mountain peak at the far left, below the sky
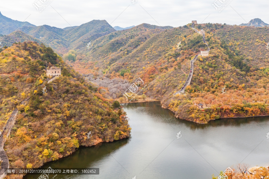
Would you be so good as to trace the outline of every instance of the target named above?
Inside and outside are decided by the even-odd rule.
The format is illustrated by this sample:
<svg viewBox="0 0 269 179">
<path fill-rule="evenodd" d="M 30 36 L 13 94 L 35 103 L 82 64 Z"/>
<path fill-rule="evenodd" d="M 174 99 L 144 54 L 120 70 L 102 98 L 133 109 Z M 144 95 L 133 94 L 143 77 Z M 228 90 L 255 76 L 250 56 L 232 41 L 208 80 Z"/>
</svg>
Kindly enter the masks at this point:
<svg viewBox="0 0 269 179">
<path fill-rule="evenodd" d="M 11 18 L 8 18 L 6 16 L 3 16 L 0 12 L 0 34 L 7 35 L 12 33 L 15 30 L 19 30 L 21 27 L 35 27 L 35 25 L 30 24 L 29 22 L 21 22 L 21 21 L 16 21 L 12 20 Z"/>
</svg>

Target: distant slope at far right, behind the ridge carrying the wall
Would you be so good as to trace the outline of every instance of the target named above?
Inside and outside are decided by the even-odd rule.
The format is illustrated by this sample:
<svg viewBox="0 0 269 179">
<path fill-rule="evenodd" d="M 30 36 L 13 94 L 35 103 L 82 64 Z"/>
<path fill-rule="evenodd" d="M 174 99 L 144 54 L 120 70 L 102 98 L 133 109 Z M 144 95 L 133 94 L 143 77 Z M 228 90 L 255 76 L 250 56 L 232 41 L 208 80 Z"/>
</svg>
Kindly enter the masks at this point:
<svg viewBox="0 0 269 179">
<path fill-rule="evenodd" d="M 256 70 L 269 64 L 269 51 L 266 48 L 268 27 L 225 26 L 214 30 L 216 36 L 225 41 L 227 47 Z"/>
</svg>

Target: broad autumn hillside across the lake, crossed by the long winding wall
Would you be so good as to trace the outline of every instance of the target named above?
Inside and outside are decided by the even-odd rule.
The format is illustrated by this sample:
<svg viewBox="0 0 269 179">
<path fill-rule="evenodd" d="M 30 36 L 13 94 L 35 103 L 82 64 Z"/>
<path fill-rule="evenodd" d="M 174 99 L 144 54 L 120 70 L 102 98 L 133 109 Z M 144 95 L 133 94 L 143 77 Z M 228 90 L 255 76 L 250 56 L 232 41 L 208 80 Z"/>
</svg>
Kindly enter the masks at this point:
<svg viewBox="0 0 269 179">
<path fill-rule="evenodd" d="M 243 48 L 252 37 L 247 33 L 262 40 L 268 28 L 197 24 L 195 28 L 206 31 L 210 55 L 195 62 L 186 95 L 172 95 L 187 79 L 189 61 L 207 49 L 202 36 L 190 26 L 156 29 L 141 24 L 117 31 L 94 41 L 98 46 L 72 65 L 80 73 L 95 77 L 122 78 L 130 83 L 140 77 L 147 84 L 144 93 L 160 100 L 178 118 L 207 123 L 216 118 L 268 115 L 268 50 L 265 46 L 260 48 L 263 43 L 257 44 L 255 49 L 259 50 L 251 56 L 248 55 L 251 51 L 246 54 L 245 51 L 253 46 Z M 243 28 L 247 29 L 240 33 Z M 242 41 L 240 48 L 230 44 L 229 39 L 233 38 Z M 178 50 L 176 45 L 180 41 L 182 48 Z M 264 54 L 263 58 L 258 54 Z M 259 63 L 261 60 L 263 63 Z M 224 86 L 227 93 L 222 94 Z M 205 108 L 201 110 L 194 105 L 199 103 Z"/>
</svg>

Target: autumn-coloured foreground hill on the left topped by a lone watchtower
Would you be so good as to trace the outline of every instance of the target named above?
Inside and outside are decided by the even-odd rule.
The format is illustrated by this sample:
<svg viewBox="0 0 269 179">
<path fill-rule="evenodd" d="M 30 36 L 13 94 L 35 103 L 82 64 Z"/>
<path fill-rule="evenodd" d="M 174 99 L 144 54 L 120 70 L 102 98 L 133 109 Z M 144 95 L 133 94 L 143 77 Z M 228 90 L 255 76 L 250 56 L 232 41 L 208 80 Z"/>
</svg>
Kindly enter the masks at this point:
<svg viewBox="0 0 269 179">
<path fill-rule="evenodd" d="M 62 68 L 62 76 L 52 83 L 46 80 L 46 62 Z M 129 137 L 126 113 L 111 106 L 112 100 L 99 91 L 50 47 L 29 41 L 4 49 L 0 53 L 1 129 L 13 109 L 20 111 L 4 145 L 11 167 L 37 168 L 79 146 Z M 27 97 L 27 104 L 19 105 Z M 90 131 L 92 137 L 87 139 Z"/>
</svg>

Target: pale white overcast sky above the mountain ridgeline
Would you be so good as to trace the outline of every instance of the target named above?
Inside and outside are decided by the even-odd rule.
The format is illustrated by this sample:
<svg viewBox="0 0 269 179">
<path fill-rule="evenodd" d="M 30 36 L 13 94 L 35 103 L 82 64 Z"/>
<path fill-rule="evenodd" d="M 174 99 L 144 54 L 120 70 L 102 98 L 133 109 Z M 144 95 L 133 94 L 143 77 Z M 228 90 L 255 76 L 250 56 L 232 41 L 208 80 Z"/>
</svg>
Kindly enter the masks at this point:
<svg viewBox="0 0 269 179">
<path fill-rule="evenodd" d="M 269 0 L 133 2 L 134 4 L 132 0 L 0 0 L 0 11 L 14 20 L 26 19 L 37 26 L 47 24 L 59 28 L 81 25 L 94 19 L 106 20 L 112 27 L 129 27 L 142 23 L 179 27 L 192 20 L 197 20 L 198 23 L 203 21 L 239 25 L 253 18 L 261 18 L 269 23 Z M 218 6 L 218 10 L 212 4 Z M 219 12 L 223 7 L 225 8 Z"/>
</svg>

